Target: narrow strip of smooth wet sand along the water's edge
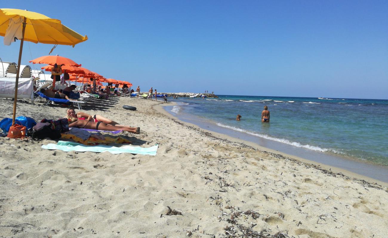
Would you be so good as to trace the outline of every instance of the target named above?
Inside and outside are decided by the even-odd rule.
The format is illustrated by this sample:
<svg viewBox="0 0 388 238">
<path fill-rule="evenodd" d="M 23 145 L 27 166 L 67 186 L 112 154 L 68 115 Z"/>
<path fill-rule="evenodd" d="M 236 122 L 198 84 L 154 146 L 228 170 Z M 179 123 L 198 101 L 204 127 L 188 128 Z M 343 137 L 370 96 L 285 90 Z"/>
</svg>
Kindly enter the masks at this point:
<svg viewBox="0 0 388 238">
<path fill-rule="evenodd" d="M 159 113 L 163 113 L 164 115 L 169 116 L 170 118 L 173 118 L 173 119 L 177 120 L 178 122 L 180 122 L 182 124 L 185 124 L 185 125 L 187 125 L 189 127 L 195 127 L 195 128 L 197 128 L 199 130 L 204 130 L 206 133 L 211 134 L 211 135 L 213 135 L 215 137 L 219 137 L 220 139 L 226 139 L 226 140 L 230 140 L 232 142 L 236 142 L 236 143 L 239 143 L 239 144 L 245 144 L 247 146 L 250 146 L 250 147 L 252 147 L 254 149 L 258 149 L 258 150 L 263 151 L 263 152 L 270 152 L 270 153 L 273 153 L 273 154 L 279 154 L 281 156 L 284 156 L 285 158 L 309 164 L 310 166 L 312 166 L 314 168 L 316 166 L 319 166 L 319 167 L 321 167 L 321 169 L 323 169 L 323 170 L 325 170 L 325 171 L 327 171 L 329 173 L 341 173 L 344 176 L 349 177 L 349 178 L 353 178 L 353 179 L 360 180 L 360 181 L 361 180 L 365 180 L 368 183 L 380 184 L 380 185 L 383 185 L 385 187 L 388 187 L 388 182 L 381 181 L 381 180 L 378 180 L 376 178 L 371 178 L 369 176 L 361 175 L 359 173 L 355 173 L 355 172 L 352 172 L 350 170 L 339 168 L 339 167 L 336 167 L 336 166 L 333 166 L 333 165 L 320 163 L 318 161 L 314 161 L 314 160 L 311 160 L 311 159 L 308 159 L 308 158 L 302 158 L 300 156 L 295 156 L 295 155 L 292 155 L 292 154 L 288 154 L 287 152 L 282 152 L 282 151 L 278 151 L 276 149 L 271 149 L 271 148 L 268 148 L 268 147 L 260 146 L 259 144 L 255 143 L 255 142 L 251 142 L 251 141 L 248 141 L 248 140 L 232 137 L 230 135 L 218 133 L 218 132 L 215 132 L 213 130 L 207 130 L 207 129 L 202 128 L 202 127 L 200 127 L 200 126 L 198 126 L 198 125 L 196 125 L 194 123 L 182 121 L 178 117 L 172 115 L 171 113 L 169 113 L 167 110 L 164 109 L 165 106 L 175 106 L 175 105 L 177 105 L 176 102 L 171 102 L 171 103 L 172 104 L 169 104 L 169 105 L 165 105 L 165 104 L 155 105 L 153 108 L 156 111 L 158 111 Z M 379 165 L 372 164 L 372 163 L 367 163 L 367 162 L 364 162 L 364 161 L 355 161 L 355 160 L 348 159 L 348 158 L 343 158 L 343 159 L 344 160 L 348 160 L 348 161 L 353 161 L 355 163 L 358 163 L 358 164 L 360 164 L 360 166 L 363 163 L 365 163 L 365 164 L 369 164 L 371 166 L 379 167 Z"/>
</svg>

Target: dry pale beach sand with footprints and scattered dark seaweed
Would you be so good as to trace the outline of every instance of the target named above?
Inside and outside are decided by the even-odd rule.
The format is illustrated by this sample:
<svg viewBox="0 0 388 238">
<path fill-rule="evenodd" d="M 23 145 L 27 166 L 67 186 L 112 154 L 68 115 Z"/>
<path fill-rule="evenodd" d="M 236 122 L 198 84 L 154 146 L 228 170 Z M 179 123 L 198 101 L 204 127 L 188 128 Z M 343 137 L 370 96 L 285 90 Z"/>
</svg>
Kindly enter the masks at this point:
<svg viewBox="0 0 388 238">
<path fill-rule="evenodd" d="M 159 144 L 156 156 L 0 138 L 0 237 L 386 237 L 386 184 L 181 123 L 152 108 L 159 103 L 114 97 L 83 110 L 139 126 L 121 135 Z M 66 114 L 17 105 L 36 121 Z M 0 111 L 11 117 L 12 101 L 0 99 Z"/>
</svg>

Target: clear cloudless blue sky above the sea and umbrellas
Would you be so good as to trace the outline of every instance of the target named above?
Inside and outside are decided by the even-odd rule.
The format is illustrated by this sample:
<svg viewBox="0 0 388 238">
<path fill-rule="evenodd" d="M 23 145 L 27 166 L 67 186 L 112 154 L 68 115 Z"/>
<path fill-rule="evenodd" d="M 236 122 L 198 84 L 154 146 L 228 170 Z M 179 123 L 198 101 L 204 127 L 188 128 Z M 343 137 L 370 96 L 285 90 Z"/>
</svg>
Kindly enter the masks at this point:
<svg viewBox="0 0 388 238">
<path fill-rule="evenodd" d="M 0 7 L 39 12 L 86 34 L 52 54 L 142 91 L 388 99 L 386 0 L 18 0 Z M 17 62 L 19 41 L 0 45 L 2 60 Z M 51 48 L 26 42 L 22 64 Z"/>
</svg>

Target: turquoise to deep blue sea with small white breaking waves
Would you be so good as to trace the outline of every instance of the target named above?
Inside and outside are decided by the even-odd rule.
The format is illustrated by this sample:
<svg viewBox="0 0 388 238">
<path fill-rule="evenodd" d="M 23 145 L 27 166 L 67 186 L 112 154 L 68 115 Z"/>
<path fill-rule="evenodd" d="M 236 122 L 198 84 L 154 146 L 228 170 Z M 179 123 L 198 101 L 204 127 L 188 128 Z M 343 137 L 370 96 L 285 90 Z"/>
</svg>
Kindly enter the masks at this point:
<svg viewBox="0 0 388 238">
<path fill-rule="evenodd" d="M 388 100 L 231 96 L 171 99 L 175 116 L 293 147 L 388 165 Z M 270 123 L 261 122 L 263 106 Z M 237 114 L 242 116 L 236 120 Z M 241 138 L 244 139 L 244 138 Z M 264 145 L 265 146 L 265 145 Z"/>
</svg>

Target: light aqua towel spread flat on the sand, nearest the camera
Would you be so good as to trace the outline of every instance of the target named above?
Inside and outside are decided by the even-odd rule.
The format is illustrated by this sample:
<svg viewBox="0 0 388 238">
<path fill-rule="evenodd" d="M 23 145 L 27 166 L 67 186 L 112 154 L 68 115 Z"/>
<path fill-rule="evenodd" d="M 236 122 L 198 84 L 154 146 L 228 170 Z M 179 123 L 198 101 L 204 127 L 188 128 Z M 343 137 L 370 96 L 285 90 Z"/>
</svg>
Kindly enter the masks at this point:
<svg viewBox="0 0 388 238">
<path fill-rule="evenodd" d="M 47 144 L 46 146 L 42 146 L 43 149 L 55 150 L 59 149 L 61 151 L 92 151 L 92 152 L 105 152 L 108 151 L 112 154 L 121 154 L 121 153 L 131 153 L 131 154 L 149 154 L 156 155 L 156 151 L 158 150 L 158 144 L 149 148 L 135 147 L 135 146 L 86 146 L 84 144 L 80 144 L 77 142 L 63 141 L 59 140 L 58 144 Z"/>
</svg>

